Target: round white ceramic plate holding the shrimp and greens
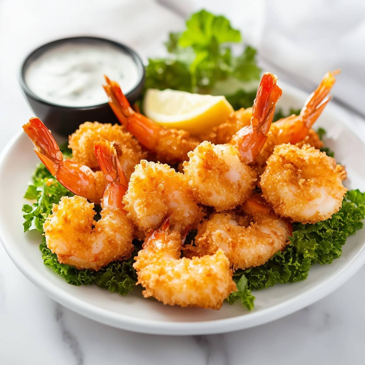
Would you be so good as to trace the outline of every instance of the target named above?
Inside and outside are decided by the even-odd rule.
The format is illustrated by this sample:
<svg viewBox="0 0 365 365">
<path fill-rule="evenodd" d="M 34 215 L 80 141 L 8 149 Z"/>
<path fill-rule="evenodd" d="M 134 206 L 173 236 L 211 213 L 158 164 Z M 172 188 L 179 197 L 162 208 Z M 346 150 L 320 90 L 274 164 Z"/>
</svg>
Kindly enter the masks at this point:
<svg viewBox="0 0 365 365">
<path fill-rule="evenodd" d="M 307 95 L 283 87 L 280 106 L 300 108 Z M 346 166 L 350 189 L 365 190 L 365 147 L 349 131 L 331 105 L 316 122 L 327 130 L 327 145 Z M 365 262 L 365 229 L 350 237 L 340 258 L 331 265 L 316 265 L 307 280 L 254 292 L 255 308 L 247 311 L 240 303 L 224 303 L 219 311 L 164 306 L 144 299 L 136 288 L 128 296 L 99 287 L 67 284 L 43 265 L 38 249 L 38 232 L 23 233 L 22 204 L 30 175 L 38 162 L 28 137 L 19 132 L 0 158 L 0 238 L 14 264 L 33 284 L 71 310 L 110 326 L 153 334 L 211 334 L 257 326 L 297 311 L 328 295 L 349 279 Z"/>
</svg>

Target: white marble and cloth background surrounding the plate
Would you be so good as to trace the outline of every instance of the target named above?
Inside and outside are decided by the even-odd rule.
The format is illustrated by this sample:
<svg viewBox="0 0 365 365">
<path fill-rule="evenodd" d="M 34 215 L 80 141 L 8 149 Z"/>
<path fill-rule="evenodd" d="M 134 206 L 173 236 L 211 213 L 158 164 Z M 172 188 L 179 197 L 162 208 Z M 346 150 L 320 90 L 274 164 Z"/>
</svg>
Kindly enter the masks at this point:
<svg viewBox="0 0 365 365">
<path fill-rule="evenodd" d="M 308 91 L 318 75 L 341 67 L 335 95 L 364 110 L 363 101 L 354 101 L 364 97 L 362 2 L 355 7 L 347 1 L 288 1 L 270 7 L 258 1 L 235 8 L 238 3 L 203 5 L 230 12 L 246 40 L 260 49 L 261 64 L 272 65 L 279 77 Z M 201 7 L 193 1 L 167 5 L 183 14 Z M 152 1 L 0 0 L 0 150 L 33 116 L 17 76 L 22 58 L 34 47 L 89 34 L 127 43 L 147 57 L 160 54 L 167 31 L 183 24 L 180 16 Z M 364 122 L 350 112 L 344 115 L 365 139 Z M 59 306 L 25 279 L 0 247 L 0 363 L 364 364 L 364 277 L 362 268 L 326 299 L 257 328 L 211 336 L 152 336 L 116 330 Z"/>
</svg>

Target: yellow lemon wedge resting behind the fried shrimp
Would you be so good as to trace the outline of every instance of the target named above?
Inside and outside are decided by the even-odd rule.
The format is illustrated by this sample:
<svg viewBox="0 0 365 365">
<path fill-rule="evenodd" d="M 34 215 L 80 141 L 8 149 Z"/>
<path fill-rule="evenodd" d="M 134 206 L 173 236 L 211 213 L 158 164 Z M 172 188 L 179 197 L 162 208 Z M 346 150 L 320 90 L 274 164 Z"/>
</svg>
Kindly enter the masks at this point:
<svg viewBox="0 0 365 365">
<path fill-rule="evenodd" d="M 233 108 L 224 96 L 148 89 L 143 100 L 143 111 L 161 126 L 199 134 L 223 123 Z"/>
</svg>

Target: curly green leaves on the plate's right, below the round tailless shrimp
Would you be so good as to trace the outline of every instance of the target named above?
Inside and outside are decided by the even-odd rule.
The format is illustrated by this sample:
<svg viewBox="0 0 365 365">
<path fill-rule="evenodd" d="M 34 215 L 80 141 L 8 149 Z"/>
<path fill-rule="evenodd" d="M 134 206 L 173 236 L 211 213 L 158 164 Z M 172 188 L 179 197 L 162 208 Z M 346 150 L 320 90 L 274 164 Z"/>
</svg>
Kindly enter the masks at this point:
<svg viewBox="0 0 365 365">
<path fill-rule="evenodd" d="M 315 224 L 293 224 L 293 237 L 284 251 L 274 254 L 262 266 L 237 270 L 235 280 L 246 276 L 248 289 L 264 289 L 278 283 L 304 280 L 314 264 L 331 264 L 341 256 L 347 237 L 362 228 L 364 218 L 365 193 L 350 190 L 342 208 L 332 218 Z"/>
</svg>

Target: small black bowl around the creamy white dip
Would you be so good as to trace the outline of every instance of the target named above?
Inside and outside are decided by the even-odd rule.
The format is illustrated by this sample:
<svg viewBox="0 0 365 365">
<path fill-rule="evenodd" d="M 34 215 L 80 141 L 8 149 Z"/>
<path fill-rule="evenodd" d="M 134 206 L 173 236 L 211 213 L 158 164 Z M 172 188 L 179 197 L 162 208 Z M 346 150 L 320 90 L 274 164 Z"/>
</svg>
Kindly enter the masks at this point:
<svg viewBox="0 0 365 365">
<path fill-rule="evenodd" d="M 32 108 L 39 119 L 52 131 L 58 134 L 68 136 L 72 134 L 81 123 L 93 122 L 97 120 L 100 123 L 118 123 L 118 119 L 114 115 L 108 103 L 92 105 L 87 107 L 68 107 L 64 105 L 58 105 L 46 101 L 39 96 L 35 95 L 28 87 L 25 81 L 25 73 L 28 66 L 37 59 L 41 54 L 47 51 L 49 48 L 54 47 L 62 43 L 108 43 L 110 45 L 119 47 L 124 53 L 128 53 L 133 58 L 137 65 L 140 78 L 135 88 L 126 94 L 126 97 L 130 103 L 134 103 L 142 94 L 143 85 L 145 82 L 145 68 L 142 64 L 142 60 L 139 55 L 126 45 L 122 43 L 111 41 L 110 39 L 98 38 L 98 37 L 71 37 L 58 39 L 50 43 L 37 48 L 31 54 L 29 54 L 20 68 L 19 84 L 22 88 L 24 95 L 28 101 L 28 104 Z M 100 85 L 101 87 L 101 85 Z M 24 121 L 25 122 L 25 121 Z"/>
</svg>

